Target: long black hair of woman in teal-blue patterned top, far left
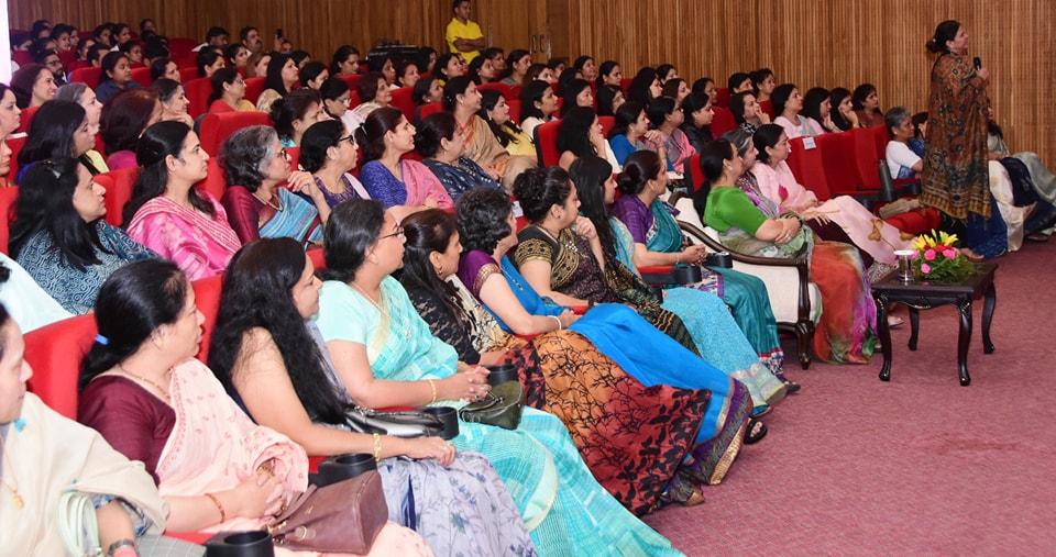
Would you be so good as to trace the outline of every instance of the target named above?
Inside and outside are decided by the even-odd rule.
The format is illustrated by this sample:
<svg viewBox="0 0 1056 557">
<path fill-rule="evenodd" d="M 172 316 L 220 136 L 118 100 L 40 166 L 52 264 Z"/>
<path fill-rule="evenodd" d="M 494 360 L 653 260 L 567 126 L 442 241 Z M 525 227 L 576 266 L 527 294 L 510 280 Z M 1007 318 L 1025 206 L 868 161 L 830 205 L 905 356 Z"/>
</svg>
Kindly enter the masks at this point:
<svg viewBox="0 0 1056 557">
<path fill-rule="evenodd" d="M 95 223 L 87 223 L 74 209 L 77 160 L 70 157 L 41 160 L 31 165 L 19 185 L 11 223 L 11 256 L 18 258 L 25 242 L 44 231 L 62 255 L 77 270 L 99 265 L 96 250 L 107 252 L 99 242 Z M 109 253 L 109 252 L 107 252 Z"/>
</svg>

